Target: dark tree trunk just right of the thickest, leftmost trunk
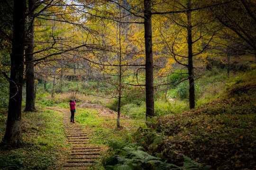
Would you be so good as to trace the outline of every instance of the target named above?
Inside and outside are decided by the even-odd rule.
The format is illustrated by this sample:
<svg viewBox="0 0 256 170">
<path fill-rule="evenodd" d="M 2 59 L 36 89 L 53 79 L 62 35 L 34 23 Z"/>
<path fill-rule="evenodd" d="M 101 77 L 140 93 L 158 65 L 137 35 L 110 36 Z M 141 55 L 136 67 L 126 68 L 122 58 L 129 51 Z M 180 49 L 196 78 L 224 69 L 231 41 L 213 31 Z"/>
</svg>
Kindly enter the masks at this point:
<svg viewBox="0 0 256 170">
<path fill-rule="evenodd" d="M 26 65 L 26 107 L 25 111 L 33 111 L 35 107 L 35 80 L 34 80 L 34 8 L 35 0 L 28 0 L 28 11 L 31 25 L 27 34 L 27 49 L 25 50 L 27 62 Z"/>
</svg>

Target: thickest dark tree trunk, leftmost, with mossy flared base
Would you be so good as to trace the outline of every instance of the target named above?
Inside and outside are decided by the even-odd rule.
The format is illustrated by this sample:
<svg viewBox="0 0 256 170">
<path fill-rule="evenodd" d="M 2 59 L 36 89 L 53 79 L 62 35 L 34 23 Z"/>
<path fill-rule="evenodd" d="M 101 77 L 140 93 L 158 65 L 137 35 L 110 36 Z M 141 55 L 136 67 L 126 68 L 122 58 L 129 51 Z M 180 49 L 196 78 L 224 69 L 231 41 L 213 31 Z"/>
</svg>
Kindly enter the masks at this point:
<svg viewBox="0 0 256 170">
<path fill-rule="evenodd" d="M 3 143 L 9 143 L 14 146 L 22 142 L 21 102 L 24 71 L 25 12 L 26 0 L 14 0 L 9 108 L 6 131 L 3 138 Z"/>
</svg>

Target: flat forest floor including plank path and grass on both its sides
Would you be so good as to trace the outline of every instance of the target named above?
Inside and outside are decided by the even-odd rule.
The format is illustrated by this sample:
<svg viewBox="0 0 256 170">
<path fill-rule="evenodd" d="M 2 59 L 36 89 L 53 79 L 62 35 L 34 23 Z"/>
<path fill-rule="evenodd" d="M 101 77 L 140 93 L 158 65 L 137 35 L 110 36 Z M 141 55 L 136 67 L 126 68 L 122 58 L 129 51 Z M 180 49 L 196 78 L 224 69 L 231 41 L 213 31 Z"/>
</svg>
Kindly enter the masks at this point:
<svg viewBox="0 0 256 170">
<path fill-rule="evenodd" d="M 6 110 L 3 111 L 7 116 Z M 109 140 L 122 139 L 137 128 L 135 121 L 121 116 L 116 128 L 117 112 L 105 106 L 82 103 L 76 107 L 75 121 L 70 122 L 67 108 L 44 107 L 23 112 L 23 142 L 19 148 L 0 149 L 0 170 L 58 169 L 83 170 L 101 161 Z M 1 122 L 0 140 L 5 122 Z M 9 148 L 9 149 L 8 149 Z"/>
</svg>

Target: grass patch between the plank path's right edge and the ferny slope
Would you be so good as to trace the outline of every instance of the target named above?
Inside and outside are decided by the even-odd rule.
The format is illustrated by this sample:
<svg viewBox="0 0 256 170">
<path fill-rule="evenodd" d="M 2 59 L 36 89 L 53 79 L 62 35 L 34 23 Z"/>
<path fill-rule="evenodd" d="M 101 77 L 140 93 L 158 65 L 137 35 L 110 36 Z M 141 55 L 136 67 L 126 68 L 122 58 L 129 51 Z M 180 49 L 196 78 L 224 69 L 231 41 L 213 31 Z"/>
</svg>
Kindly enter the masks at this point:
<svg viewBox="0 0 256 170">
<path fill-rule="evenodd" d="M 75 115 L 77 122 L 90 134 L 91 144 L 106 145 L 109 140 L 122 140 L 137 128 L 137 121 L 121 117 L 121 128 L 116 128 L 117 115 L 100 110 L 78 108 Z"/>
</svg>

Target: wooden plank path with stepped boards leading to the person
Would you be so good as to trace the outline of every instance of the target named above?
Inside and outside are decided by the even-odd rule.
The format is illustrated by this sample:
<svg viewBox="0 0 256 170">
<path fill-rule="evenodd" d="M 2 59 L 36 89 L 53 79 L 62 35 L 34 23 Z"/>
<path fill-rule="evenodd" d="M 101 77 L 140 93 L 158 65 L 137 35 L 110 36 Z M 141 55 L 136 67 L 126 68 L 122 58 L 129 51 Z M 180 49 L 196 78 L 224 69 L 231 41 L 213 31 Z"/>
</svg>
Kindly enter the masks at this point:
<svg viewBox="0 0 256 170">
<path fill-rule="evenodd" d="M 70 110 L 57 107 L 49 107 L 47 109 L 58 110 L 63 113 L 63 124 L 65 134 L 73 148 L 68 156 L 68 160 L 64 163 L 60 170 L 87 170 L 92 163 L 96 161 L 101 152 L 100 146 L 91 145 L 89 136 L 82 127 L 77 123 L 70 122 Z"/>
</svg>

